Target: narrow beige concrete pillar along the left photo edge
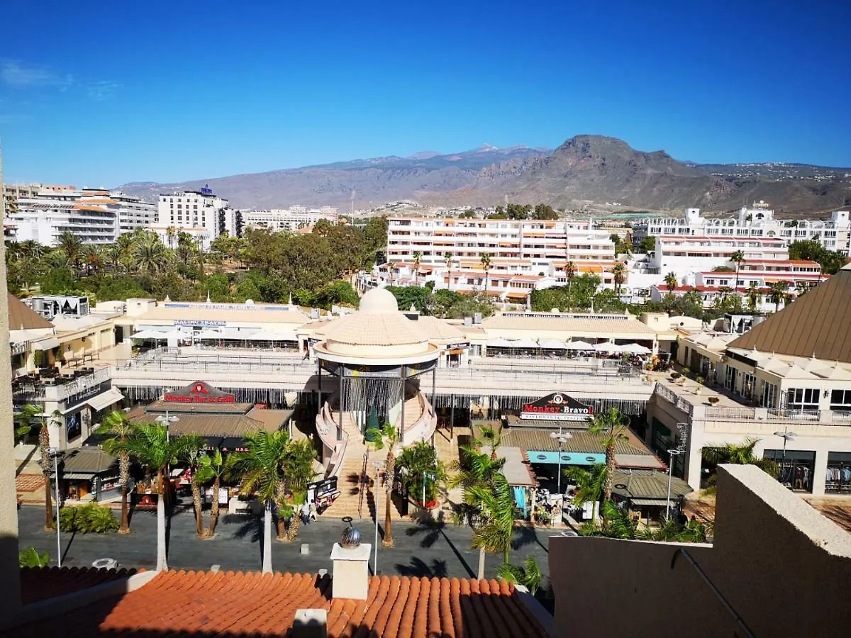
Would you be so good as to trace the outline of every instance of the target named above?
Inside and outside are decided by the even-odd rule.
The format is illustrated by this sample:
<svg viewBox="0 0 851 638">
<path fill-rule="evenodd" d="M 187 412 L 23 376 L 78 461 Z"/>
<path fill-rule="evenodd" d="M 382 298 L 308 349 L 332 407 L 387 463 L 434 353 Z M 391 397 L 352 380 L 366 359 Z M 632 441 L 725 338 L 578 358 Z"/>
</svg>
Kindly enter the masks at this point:
<svg viewBox="0 0 851 638">
<path fill-rule="evenodd" d="M 0 157 L 0 191 L 3 191 L 3 157 Z M 0 221 L 5 220 L 5 199 L 0 197 Z M 0 299 L 6 303 L 6 247 L 0 244 Z M 18 508 L 14 487 L 14 432 L 12 423 L 12 354 L 9 350 L 9 309 L 0 312 L 0 627 L 20 612 L 18 574 Z"/>
</svg>

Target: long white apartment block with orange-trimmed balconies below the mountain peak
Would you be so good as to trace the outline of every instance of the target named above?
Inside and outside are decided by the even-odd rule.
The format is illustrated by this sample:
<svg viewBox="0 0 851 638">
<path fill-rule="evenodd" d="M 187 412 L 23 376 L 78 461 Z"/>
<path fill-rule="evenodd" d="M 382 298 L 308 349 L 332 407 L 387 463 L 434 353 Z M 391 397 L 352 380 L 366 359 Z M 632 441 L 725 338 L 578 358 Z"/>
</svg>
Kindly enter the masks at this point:
<svg viewBox="0 0 851 638">
<path fill-rule="evenodd" d="M 610 233 L 595 230 L 588 219 L 391 217 L 387 223 L 391 267 L 413 273 L 414 254 L 419 253 L 421 271 L 431 273 L 437 288 L 483 290 L 485 254 L 490 258 L 488 293 L 501 295 L 505 288 L 492 285 L 511 276 L 525 277 L 524 288 L 563 285 L 568 261 L 574 263 L 576 274 L 591 272 L 603 282 L 611 281 L 614 243 Z"/>
</svg>

